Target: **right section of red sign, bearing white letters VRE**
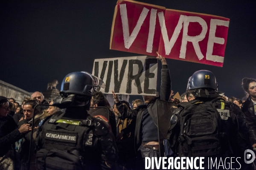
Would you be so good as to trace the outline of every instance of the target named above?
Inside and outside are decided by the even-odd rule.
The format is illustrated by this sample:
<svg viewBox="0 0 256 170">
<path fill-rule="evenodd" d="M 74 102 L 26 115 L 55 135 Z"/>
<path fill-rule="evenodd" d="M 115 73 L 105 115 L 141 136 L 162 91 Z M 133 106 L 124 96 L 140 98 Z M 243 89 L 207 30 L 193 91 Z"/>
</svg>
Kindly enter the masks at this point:
<svg viewBox="0 0 256 170">
<path fill-rule="evenodd" d="M 172 9 L 158 17 L 163 57 L 223 66 L 229 19 Z"/>
</svg>

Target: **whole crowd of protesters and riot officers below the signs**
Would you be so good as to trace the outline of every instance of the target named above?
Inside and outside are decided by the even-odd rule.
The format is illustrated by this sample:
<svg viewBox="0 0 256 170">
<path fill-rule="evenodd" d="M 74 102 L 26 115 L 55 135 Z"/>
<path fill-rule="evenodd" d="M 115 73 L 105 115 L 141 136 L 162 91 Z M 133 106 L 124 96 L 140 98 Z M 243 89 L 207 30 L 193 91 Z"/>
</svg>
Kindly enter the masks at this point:
<svg viewBox="0 0 256 170">
<path fill-rule="evenodd" d="M 198 71 L 189 78 L 187 91 L 180 99 L 172 99 L 168 65 L 159 54 L 157 59 L 162 62 L 160 92 L 156 96 L 143 96 L 144 101 L 136 99 L 132 104 L 120 101 L 112 91 L 115 102 L 111 106 L 104 94 L 96 91 L 96 79 L 86 72 L 68 74 L 62 82 L 61 96 L 53 101 L 46 101 L 40 92 L 34 92 L 21 105 L 9 96 L 0 96 L 0 169 L 141 170 L 145 169 L 145 158 L 159 158 L 160 150 L 165 150 L 165 156 L 173 157 L 219 156 L 241 157 L 243 160 L 244 150 L 256 148 L 255 79 L 242 79 L 246 97 L 227 98 L 218 92 L 214 74 Z M 159 137 L 157 129 L 157 99 L 176 104 L 166 139 Z M 212 104 L 204 104 L 209 102 Z M 49 106 L 36 107 L 38 104 Z M 106 112 L 108 116 L 90 116 L 90 111 L 97 107 L 105 108 L 98 111 L 99 115 Z M 195 133 L 189 126 L 212 123 L 201 118 L 196 118 L 199 122 L 193 122 L 193 117 L 184 118 L 183 115 L 191 113 L 192 108 L 199 107 L 202 113 L 193 113 L 194 116 L 200 114 L 201 118 L 218 111 L 219 116 L 215 115 L 214 119 L 221 119 L 222 129 L 217 126 L 209 131 L 207 126 L 207 133 L 217 140 L 219 134 L 216 131 L 220 131 L 224 140 L 204 141 L 202 137 L 209 134 L 200 131 L 201 142 L 189 143 L 188 136 Z M 220 110 L 228 110 L 228 114 L 223 116 Z M 183 127 L 184 121 L 190 121 L 189 126 Z M 241 161 L 239 164 L 243 170 L 253 169 L 251 164 Z"/>
</svg>

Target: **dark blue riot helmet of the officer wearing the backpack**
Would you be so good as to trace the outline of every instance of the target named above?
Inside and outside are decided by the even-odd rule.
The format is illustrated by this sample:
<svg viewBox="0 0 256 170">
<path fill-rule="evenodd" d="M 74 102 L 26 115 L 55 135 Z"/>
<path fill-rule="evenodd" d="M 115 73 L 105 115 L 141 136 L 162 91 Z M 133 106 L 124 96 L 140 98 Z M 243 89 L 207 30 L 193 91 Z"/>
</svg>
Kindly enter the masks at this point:
<svg viewBox="0 0 256 170">
<path fill-rule="evenodd" d="M 218 91 L 215 75 L 208 70 L 199 70 L 189 77 L 187 90 L 209 88 Z"/>
</svg>

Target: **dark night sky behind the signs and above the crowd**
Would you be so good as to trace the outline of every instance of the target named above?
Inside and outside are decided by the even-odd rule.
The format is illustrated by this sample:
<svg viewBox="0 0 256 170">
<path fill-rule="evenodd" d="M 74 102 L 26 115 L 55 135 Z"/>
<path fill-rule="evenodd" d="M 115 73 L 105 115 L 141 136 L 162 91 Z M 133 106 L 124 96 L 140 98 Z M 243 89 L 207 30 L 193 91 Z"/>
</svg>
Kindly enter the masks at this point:
<svg viewBox="0 0 256 170">
<path fill-rule="evenodd" d="M 166 60 L 175 93 L 185 92 L 187 79 L 205 69 L 215 74 L 226 96 L 244 96 L 241 79 L 256 78 L 255 0 L 139 1 L 230 18 L 223 68 Z M 109 49 L 115 5 L 116 0 L 1 1 L 0 80 L 34 92 L 45 91 L 48 82 L 58 79 L 60 90 L 68 73 L 91 73 L 94 59 L 140 55 Z M 160 74 L 158 82 L 159 89 Z"/>
</svg>

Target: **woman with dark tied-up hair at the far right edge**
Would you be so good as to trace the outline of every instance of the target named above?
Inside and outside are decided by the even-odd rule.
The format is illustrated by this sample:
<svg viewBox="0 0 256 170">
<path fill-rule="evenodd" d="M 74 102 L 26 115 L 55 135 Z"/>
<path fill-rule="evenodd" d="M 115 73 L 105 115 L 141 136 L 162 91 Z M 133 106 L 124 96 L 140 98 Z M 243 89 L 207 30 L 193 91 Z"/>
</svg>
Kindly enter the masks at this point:
<svg viewBox="0 0 256 170">
<path fill-rule="evenodd" d="M 242 80 L 244 91 L 249 94 L 242 105 L 242 111 L 249 127 L 250 142 L 256 147 L 256 79 L 244 78 Z"/>
</svg>

